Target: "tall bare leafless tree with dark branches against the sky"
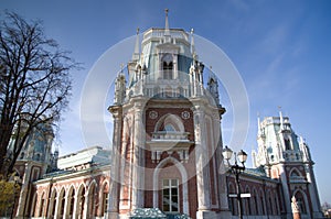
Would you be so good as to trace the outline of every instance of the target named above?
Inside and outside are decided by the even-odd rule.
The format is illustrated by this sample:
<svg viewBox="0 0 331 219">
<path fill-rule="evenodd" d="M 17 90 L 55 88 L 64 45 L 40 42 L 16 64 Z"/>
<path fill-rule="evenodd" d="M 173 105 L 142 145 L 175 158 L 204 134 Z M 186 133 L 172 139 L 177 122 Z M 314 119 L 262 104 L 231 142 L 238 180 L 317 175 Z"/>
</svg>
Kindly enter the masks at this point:
<svg viewBox="0 0 331 219">
<path fill-rule="evenodd" d="M 70 72 L 78 67 L 68 52 L 45 36 L 41 21 L 6 15 L 0 26 L 0 172 L 4 175 L 33 129 L 60 121 L 72 90 Z"/>
</svg>

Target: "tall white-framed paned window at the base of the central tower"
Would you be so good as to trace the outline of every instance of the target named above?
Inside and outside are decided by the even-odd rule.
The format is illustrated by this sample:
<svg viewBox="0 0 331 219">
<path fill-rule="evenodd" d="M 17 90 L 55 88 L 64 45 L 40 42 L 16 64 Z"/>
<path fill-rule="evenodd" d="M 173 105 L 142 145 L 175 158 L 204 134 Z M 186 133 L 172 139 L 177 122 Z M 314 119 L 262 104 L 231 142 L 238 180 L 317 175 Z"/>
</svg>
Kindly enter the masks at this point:
<svg viewBox="0 0 331 219">
<path fill-rule="evenodd" d="M 162 209 L 166 212 L 178 212 L 179 211 L 178 179 L 163 179 Z"/>
</svg>

